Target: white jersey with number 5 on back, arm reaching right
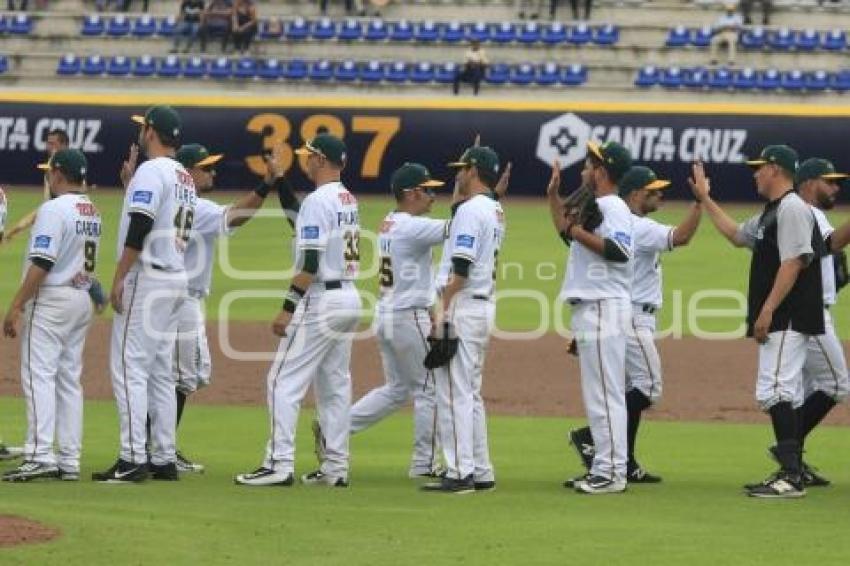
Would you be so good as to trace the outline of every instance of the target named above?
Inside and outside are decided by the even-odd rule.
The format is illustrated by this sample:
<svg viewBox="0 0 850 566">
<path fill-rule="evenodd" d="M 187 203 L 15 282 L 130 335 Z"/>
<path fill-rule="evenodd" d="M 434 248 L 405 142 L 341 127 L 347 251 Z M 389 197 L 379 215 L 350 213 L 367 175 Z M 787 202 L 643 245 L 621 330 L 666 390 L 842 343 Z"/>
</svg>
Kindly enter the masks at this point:
<svg viewBox="0 0 850 566">
<path fill-rule="evenodd" d="M 435 289 L 431 249 L 445 240 L 448 222 L 391 212 L 381 223 L 378 310 L 428 308 Z"/>
</svg>

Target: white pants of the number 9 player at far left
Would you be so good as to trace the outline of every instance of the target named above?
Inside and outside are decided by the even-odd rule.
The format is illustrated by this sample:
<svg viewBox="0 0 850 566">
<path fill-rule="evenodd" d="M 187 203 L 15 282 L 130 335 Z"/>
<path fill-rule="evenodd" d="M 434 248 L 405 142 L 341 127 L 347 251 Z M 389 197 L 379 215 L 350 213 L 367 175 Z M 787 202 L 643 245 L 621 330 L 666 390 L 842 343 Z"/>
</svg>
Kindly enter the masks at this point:
<svg viewBox="0 0 850 566">
<path fill-rule="evenodd" d="M 41 287 L 24 308 L 21 384 L 27 405 L 25 458 L 58 465 L 68 472 L 80 470 L 80 374 L 91 317 L 88 293 L 72 287 Z"/>
</svg>

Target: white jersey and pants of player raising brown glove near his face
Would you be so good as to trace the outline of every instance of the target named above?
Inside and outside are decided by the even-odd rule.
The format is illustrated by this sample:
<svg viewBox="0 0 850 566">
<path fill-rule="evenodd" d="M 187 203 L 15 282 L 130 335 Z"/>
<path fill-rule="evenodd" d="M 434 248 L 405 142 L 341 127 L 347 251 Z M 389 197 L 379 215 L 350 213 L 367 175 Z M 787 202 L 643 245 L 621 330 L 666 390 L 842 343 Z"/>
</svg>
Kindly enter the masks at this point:
<svg viewBox="0 0 850 566">
<path fill-rule="evenodd" d="M 596 453 L 590 473 L 626 481 L 626 342 L 631 326 L 634 219 L 619 196 L 596 199 L 604 220 L 594 234 L 614 242 L 628 261 L 608 261 L 573 242 L 560 298 L 572 306 L 581 391 Z"/>
</svg>

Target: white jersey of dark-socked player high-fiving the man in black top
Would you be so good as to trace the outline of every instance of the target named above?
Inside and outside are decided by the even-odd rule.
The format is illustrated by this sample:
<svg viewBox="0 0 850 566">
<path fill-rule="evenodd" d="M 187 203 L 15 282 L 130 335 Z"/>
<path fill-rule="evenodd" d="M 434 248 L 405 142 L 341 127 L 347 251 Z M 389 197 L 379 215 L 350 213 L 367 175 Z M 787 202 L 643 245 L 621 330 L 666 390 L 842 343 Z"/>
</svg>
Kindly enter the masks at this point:
<svg viewBox="0 0 850 566">
<path fill-rule="evenodd" d="M 673 249 L 673 226 L 645 216 L 632 215 L 635 237 L 635 270 L 632 302 L 661 306 L 661 252 Z"/>
</svg>

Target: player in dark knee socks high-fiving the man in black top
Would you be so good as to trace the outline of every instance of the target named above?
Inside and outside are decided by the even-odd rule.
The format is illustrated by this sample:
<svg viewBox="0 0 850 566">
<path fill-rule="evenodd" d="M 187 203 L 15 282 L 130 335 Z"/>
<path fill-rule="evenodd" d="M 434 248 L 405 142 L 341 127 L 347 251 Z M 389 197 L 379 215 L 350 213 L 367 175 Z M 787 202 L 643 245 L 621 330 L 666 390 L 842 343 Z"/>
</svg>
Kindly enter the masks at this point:
<svg viewBox="0 0 850 566">
<path fill-rule="evenodd" d="M 670 181 L 659 179 L 643 166 L 632 167 L 620 180 L 620 195 L 633 215 L 634 279 L 632 321 L 626 338 L 626 481 L 658 483 L 659 476 L 644 470 L 635 458 L 635 443 L 643 411 L 661 398 L 661 358 L 655 346 L 656 313 L 661 308 L 661 254 L 687 245 L 699 227 L 702 207 L 695 202 L 678 226 L 667 226 L 648 218 L 658 210 L 662 192 Z M 593 463 L 593 436 L 589 427 L 570 431 L 570 442 L 578 450 L 587 470 Z M 581 479 L 581 478 L 579 478 Z M 567 480 L 566 487 L 574 487 Z"/>
</svg>

